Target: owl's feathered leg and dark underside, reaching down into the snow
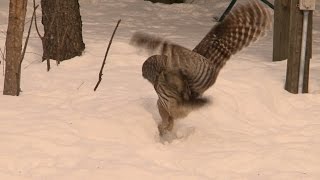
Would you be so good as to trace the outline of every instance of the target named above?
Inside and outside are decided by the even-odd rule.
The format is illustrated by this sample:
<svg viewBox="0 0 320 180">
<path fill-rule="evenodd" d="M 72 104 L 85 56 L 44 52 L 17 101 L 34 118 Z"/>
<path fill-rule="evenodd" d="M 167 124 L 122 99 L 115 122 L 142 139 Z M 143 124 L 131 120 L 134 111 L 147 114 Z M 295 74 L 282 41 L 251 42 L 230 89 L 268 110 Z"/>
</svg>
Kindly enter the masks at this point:
<svg viewBox="0 0 320 180">
<path fill-rule="evenodd" d="M 209 101 L 204 98 L 193 99 L 187 80 L 180 70 L 162 71 L 154 82 L 158 94 L 158 110 L 162 121 L 158 129 L 165 141 L 176 137 L 172 132 L 174 120 L 186 117 L 193 109 L 200 108 Z"/>
</svg>

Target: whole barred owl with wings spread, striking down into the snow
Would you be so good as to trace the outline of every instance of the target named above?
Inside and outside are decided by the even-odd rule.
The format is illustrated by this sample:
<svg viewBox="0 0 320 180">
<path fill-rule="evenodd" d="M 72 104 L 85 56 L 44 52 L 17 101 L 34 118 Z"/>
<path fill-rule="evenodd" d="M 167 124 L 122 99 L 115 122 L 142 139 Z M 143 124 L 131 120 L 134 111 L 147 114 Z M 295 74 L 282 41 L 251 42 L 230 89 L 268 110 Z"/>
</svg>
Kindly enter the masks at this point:
<svg viewBox="0 0 320 180">
<path fill-rule="evenodd" d="M 236 6 L 193 51 L 160 37 L 135 33 L 132 45 L 158 54 L 144 62 L 142 75 L 158 95 L 160 136 L 172 131 L 175 119 L 205 105 L 202 94 L 215 83 L 231 55 L 256 41 L 270 26 L 269 10 L 252 0 Z"/>
</svg>

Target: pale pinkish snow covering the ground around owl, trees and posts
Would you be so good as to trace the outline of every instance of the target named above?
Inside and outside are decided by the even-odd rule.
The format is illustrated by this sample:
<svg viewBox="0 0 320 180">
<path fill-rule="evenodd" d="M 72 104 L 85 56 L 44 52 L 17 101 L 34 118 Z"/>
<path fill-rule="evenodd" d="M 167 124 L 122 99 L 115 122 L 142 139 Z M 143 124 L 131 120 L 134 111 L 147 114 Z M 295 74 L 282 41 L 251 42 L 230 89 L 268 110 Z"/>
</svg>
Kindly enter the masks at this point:
<svg viewBox="0 0 320 180">
<path fill-rule="evenodd" d="M 269 32 L 227 63 L 205 93 L 209 106 L 177 121 L 179 139 L 159 141 L 157 95 L 141 76 L 148 55 L 128 41 L 140 30 L 192 49 L 229 1 L 192 2 L 81 0 L 86 50 L 59 66 L 51 61 L 50 72 L 33 32 L 22 64 L 23 92 L 0 96 L 0 179 L 320 179 L 319 3 L 309 94 L 283 89 L 286 61 L 272 62 Z M 7 18 L 8 2 L 1 1 L 0 32 Z M 4 43 L 0 33 L 2 49 Z M 0 68 L 0 84 L 3 73 Z"/>
</svg>

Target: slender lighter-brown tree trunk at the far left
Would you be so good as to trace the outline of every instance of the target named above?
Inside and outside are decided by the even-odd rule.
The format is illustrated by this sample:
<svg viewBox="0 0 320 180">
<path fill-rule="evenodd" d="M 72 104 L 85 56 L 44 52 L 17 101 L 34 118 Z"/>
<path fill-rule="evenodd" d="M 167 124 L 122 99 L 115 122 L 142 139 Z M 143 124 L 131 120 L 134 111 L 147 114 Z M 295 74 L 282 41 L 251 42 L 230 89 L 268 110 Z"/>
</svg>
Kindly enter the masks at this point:
<svg viewBox="0 0 320 180">
<path fill-rule="evenodd" d="M 28 0 L 10 0 L 6 38 L 6 70 L 4 95 L 18 96 L 22 60 L 22 38 Z"/>
</svg>

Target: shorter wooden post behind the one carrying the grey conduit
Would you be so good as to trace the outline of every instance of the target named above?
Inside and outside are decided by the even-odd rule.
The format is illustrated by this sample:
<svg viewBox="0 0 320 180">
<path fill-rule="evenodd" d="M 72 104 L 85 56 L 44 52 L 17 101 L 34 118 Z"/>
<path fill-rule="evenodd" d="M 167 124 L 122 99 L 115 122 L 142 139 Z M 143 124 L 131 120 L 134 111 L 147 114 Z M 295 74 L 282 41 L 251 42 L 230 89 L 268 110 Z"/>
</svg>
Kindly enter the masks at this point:
<svg viewBox="0 0 320 180">
<path fill-rule="evenodd" d="M 273 61 L 288 59 L 290 0 L 274 1 Z"/>
</svg>

